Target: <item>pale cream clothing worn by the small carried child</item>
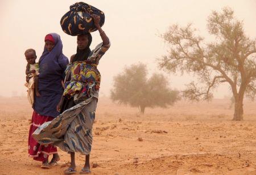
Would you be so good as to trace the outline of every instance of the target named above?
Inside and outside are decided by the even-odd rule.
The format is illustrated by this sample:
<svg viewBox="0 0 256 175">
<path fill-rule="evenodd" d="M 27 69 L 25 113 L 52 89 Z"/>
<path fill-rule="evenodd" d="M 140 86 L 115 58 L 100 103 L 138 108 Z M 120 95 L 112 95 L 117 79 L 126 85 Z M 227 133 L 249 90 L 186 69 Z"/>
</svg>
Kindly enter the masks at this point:
<svg viewBox="0 0 256 175">
<path fill-rule="evenodd" d="M 24 86 L 27 87 L 27 100 L 33 106 L 34 104 L 34 92 L 35 92 L 35 76 L 39 74 L 39 64 L 35 63 L 33 65 L 30 65 L 30 71 L 35 70 L 36 72 L 34 74 L 28 74 L 30 77 L 30 80 L 28 83 L 26 82 Z"/>
</svg>

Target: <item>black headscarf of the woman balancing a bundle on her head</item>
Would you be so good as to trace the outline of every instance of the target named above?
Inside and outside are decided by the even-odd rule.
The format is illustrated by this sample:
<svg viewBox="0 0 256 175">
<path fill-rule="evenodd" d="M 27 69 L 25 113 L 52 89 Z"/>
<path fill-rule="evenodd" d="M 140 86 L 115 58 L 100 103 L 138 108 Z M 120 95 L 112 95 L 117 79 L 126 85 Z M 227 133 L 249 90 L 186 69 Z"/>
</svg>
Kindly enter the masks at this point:
<svg viewBox="0 0 256 175">
<path fill-rule="evenodd" d="M 92 35 L 90 35 L 90 33 L 88 33 L 88 34 L 86 34 L 86 36 L 88 37 L 88 45 L 83 50 L 80 50 L 77 47 L 76 54 L 75 54 L 75 57 L 73 58 L 72 62 L 86 61 L 86 59 L 89 57 L 89 55 L 90 55 L 90 44 L 92 43 Z"/>
</svg>

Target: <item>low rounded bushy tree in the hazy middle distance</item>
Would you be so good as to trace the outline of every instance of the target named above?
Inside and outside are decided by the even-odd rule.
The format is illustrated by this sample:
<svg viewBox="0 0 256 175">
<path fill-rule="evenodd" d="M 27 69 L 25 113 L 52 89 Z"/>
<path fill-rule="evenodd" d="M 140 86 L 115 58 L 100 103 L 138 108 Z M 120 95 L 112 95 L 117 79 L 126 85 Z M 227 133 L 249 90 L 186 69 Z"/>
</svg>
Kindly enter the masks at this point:
<svg viewBox="0 0 256 175">
<path fill-rule="evenodd" d="M 146 65 L 131 65 L 114 77 L 111 99 L 121 104 L 138 107 L 144 113 L 146 107 L 166 108 L 174 104 L 179 92 L 168 88 L 167 78 L 161 74 L 153 74 L 147 79 Z"/>
</svg>

